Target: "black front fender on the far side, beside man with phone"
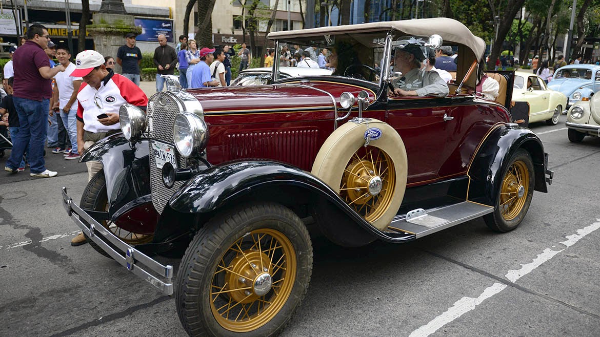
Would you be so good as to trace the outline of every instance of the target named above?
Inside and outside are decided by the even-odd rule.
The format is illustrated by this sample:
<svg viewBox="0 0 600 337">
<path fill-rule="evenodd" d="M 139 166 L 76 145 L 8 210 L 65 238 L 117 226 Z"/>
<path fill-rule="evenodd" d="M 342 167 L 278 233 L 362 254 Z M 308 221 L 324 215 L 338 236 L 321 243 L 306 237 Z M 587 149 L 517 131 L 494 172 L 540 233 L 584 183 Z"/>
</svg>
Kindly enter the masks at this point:
<svg viewBox="0 0 600 337">
<path fill-rule="evenodd" d="M 150 194 L 148 153 L 148 140 L 131 145 L 122 134 L 115 134 L 94 143 L 80 158 L 82 163 L 102 163 L 110 215 L 130 201 Z"/>
</svg>

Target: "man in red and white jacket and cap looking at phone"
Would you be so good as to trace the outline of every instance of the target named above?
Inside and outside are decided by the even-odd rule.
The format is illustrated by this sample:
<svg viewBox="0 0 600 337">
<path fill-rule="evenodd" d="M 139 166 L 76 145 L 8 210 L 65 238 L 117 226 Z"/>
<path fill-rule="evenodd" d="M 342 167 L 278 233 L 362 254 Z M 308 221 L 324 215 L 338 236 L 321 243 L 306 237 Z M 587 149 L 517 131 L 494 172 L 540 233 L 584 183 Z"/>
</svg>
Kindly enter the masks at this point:
<svg viewBox="0 0 600 337">
<path fill-rule="evenodd" d="M 86 151 L 98 140 L 121 131 L 119 108 L 130 103 L 146 110 L 148 97 L 131 80 L 104 66 L 104 56 L 95 50 L 83 50 L 75 59 L 76 70 L 71 76 L 82 77 L 77 93 L 77 148 Z M 103 116 L 106 115 L 106 116 Z M 88 181 L 102 169 L 97 161 L 86 162 Z M 71 240 L 79 246 L 87 240 L 80 233 Z"/>
</svg>

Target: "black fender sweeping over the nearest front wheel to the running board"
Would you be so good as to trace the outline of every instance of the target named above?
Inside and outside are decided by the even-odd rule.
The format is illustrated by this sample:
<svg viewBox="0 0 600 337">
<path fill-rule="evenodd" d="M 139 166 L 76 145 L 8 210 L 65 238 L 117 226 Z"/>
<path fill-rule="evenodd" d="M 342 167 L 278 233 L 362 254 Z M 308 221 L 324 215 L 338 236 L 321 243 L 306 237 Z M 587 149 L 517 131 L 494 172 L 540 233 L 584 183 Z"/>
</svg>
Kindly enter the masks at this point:
<svg viewBox="0 0 600 337">
<path fill-rule="evenodd" d="M 392 242 L 406 240 L 406 237 L 388 236 L 374 228 L 313 174 L 273 161 L 236 161 L 213 166 L 185 183 L 170 199 L 169 205 L 181 213 L 214 213 L 223 207 L 255 201 L 259 196 L 284 204 L 283 198 L 291 198 L 290 205 L 296 206 L 301 203 L 301 198 L 325 198 L 377 238 Z"/>
</svg>

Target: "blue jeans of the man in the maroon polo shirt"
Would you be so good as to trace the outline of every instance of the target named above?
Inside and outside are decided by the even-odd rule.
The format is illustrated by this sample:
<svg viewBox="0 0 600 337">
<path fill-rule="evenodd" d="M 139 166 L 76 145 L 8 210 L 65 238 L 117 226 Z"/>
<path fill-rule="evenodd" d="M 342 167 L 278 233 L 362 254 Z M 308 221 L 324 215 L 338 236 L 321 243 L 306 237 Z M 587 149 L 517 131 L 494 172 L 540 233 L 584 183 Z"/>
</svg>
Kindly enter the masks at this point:
<svg viewBox="0 0 600 337">
<path fill-rule="evenodd" d="M 17 169 L 29 143 L 29 173 L 46 171 L 44 142 L 47 137 L 48 110 L 50 100 L 34 101 L 13 97 L 14 107 L 19 115 L 20 130 L 13 140 L 13 150 L 6 162 L 10 169 Z"/>
</svg>

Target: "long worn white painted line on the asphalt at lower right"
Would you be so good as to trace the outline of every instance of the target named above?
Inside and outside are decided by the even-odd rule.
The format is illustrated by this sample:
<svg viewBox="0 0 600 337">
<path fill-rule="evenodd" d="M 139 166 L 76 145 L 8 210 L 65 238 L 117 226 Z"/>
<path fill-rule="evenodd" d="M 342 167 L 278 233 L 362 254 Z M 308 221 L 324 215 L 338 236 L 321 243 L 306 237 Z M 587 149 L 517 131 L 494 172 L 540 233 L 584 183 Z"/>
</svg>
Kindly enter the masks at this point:
<svg viewBox="0 0 600 337">
<path fill-rule="evenodd" d="M 549 132 L 552 132 L 552 131 L 549 131 Z M 508 278 L 509 281 L 514 283 L 521 277 L 529 274 L 534 269 L 541 266 L 541 264 L 544 263 L 545 261 L 550 260 L 555 255 L 564 251 L 566 248 L 577 243 L 579 240 L 581 240 L 587 234 L 590 234 L 593 231 L 600 228 L 600 219 L 596 219 L 596 221 L 598 221 L 598 222 L 594 222 L 593 224 L 588 225 L 587 227 L 577 230 L 577 234 L 572 234 L 572 235 L 566 236 L 567 240 L 560 242 L 563 245 L 565 245 L 565 248 L 560 249 L 559 251 L 555 251 L 550 248 L 544 249 L 542 254 L 538 254 L 538 256 L 533 259 L 533 262 L 527 263 L 527 264 L 521 264 L 521 269 L 509 270 L 508 273 L 506 274 L 506 278 Z M 437 316 L 436 318 L 431 320 L 429 323 L 414 330 L 412 333 L 410 333 L 409 337 L 426 337 L 426 336 L 431 335 L 432 333 L 434 333 L 438 329 L 440 329 L 440 327 L 443 327 L 446 324 L 450 323 L 451 321 L 454 321 L 458 317 L 461 317 L 461 315 L 466 314 L 469 311 L 472 311 L 473 309 L 475 309 L 476 306 L 481 304 L 484 300 L 494 296 L 497 293 L 500 293 L 500 291 L 504 290 L 507 286 L 508 285 L 506 285 L 506 284 L 495 282 L 490 287 L 485 288 L 484 292 L 481 295 L 479 295 L 479 297 L 476 297 L 476 298 L 475 297 L 463 297 L 462 299 L 457 300 L 456 302 L 454 302 L 454 305 L 451 308 L 449 308 L 448 310 L 446 310 L 445 312 L 443 312 L 442 314 L 440 314 L 439 316 Z"/>
</svg>

